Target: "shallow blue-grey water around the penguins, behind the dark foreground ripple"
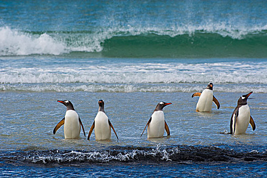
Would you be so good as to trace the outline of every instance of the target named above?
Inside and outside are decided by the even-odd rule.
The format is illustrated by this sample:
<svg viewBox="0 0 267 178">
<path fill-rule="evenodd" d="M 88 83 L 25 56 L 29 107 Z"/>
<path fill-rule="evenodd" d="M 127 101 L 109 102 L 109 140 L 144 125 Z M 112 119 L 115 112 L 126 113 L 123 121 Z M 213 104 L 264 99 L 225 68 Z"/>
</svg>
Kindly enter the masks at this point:
<svg viewBox="0 0 267 178">
<path fill-rule="evenodd" d="M 265 145 L 266 94 L 254 94 L 248 100 L 256 131 L 251 127 L 247 135 L 223 135 L 229 131 L 229 122 L 238 93 L 215 93 L 221 107 L 213 105 L 212 113 L 195 112 L 197 98 L 191 93 L 25 93 L 2 92 L 2 150 L 78 149 L 92 150 L 109 145 L 156 146 L 164 145 L 214 145 L 246 144 Z M 63 128 L 53 135 L 55 125 L 62 120 L 66 107 L 56 100 L 70 100 L 85 128 L 86 134 L 93 124 L 98 110 L 98 99 L 105 101 L 105 111 L 114 126 L 119 140 L 112 134 L 111 142 L 96 142 L 94 134 L 87 141 L 64 139 Z M 263 101 L 262 101 L 263 100 Z M 140 137 L 146 122 L 160 101 L 172 102 L 164 108 L 170 137 L 146 139 Z M 5 104 L 3 104 L 5 103 Z M 165 133 L 166 134 L 166 133 Z M 12 139 L 10 139 L 12 138 Z M 33 147 L 34 149 L 31 149 Z"/>
</svg>

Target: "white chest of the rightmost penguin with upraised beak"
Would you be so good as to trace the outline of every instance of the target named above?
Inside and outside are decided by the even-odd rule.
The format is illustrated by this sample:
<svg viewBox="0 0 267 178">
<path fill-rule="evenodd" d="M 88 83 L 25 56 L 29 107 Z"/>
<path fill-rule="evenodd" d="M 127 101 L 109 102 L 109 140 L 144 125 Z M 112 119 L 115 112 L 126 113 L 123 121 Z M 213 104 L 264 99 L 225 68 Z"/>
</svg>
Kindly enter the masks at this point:
<svg viewBox="0 0 267 178">
<path fill-rule="evenodd" d="M 238 117 L 236 118 L 234 134 L 245 134 L 249 126 L 249 121 L 250 121 L 249 106 L 248 105 L 241 106 L 239 108 Z"/>
</svg>

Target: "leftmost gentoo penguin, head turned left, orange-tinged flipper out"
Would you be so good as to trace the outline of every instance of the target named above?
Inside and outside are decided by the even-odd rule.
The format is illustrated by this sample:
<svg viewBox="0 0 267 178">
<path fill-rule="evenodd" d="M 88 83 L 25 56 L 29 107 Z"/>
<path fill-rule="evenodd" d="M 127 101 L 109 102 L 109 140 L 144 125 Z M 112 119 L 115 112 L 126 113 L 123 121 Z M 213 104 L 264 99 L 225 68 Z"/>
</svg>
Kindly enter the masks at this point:
<svg viewBox="0 0 267 178">
<path fill-rule="evenodd" d="M 55 126 L 55 128 L 53 130 L 53 134 L 55 134 L 55 132 L 62 125 L 64 125 L 65 138 L 79 138 L 81 127 L 82 127 L 83 134 L 85 137 L 85 132 L 84 132 L 83 125 L 81 123 L 81 119 L 80 119 L 79 115 L 77 114 L 77 112 L 75 111 L 72 103 L 68 100 L 64 100 L 64 101 L 57 100 L 57 102 L 64 104 L 67 107 L 67 111 L 66 111 L 66 114 L 65 114 L 65 117 L 63 118 L 63 120 L 61 120 L 61 122 L 59 122 Z"/>
</svg>

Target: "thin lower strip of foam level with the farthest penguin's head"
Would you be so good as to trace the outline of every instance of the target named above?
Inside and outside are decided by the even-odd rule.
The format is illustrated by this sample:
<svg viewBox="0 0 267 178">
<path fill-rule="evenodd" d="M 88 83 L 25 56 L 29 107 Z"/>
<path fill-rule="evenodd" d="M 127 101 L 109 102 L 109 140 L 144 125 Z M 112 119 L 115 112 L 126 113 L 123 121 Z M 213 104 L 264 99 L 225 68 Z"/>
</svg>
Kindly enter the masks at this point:
<svg viewBox="0 0 267 178">
<path fill-rule="evenodd" d="M 206 83 L 188 84 L 0 84 L 0 91 L 30 91 L 30 92 L 111 92 L 111 93 L 131 93 L 131 92 L 201 92 Z M 224 84 L 216 85 L 215 92 L 226 93 L 267 93 L 267 85 L 236 85 Z"/>
</svg>

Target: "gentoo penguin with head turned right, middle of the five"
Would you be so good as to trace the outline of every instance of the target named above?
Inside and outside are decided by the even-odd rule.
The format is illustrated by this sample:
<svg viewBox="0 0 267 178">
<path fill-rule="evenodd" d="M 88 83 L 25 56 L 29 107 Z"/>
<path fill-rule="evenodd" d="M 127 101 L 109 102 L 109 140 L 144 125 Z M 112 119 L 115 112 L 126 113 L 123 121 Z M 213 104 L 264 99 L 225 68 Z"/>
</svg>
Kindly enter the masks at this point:
<svg viewBox="0 0 267 178">
<path fill-rule="evenodd" d="M 147 138 L 160 138 L 163 137 L 164 134 L 164 129 L 167 132 L 167 135 L 170 135 L 170 130 L 169 127 L 166 123 L 166 121 L 164 120 L 164 112 L 163 112 L 163 108 L 169 104 L 172 103 L 165 103 L 165 102 L 160 102 L 153 114 L 150 117 L 149 122 L 147 122 L 147 124 L 144 127 L 144 130 L 147 126 Z M 143 133 L 144 133 L 143 130 Z M 141 136 L 143 135 L 143 133 L 141 134 Z"/>
</svg>

